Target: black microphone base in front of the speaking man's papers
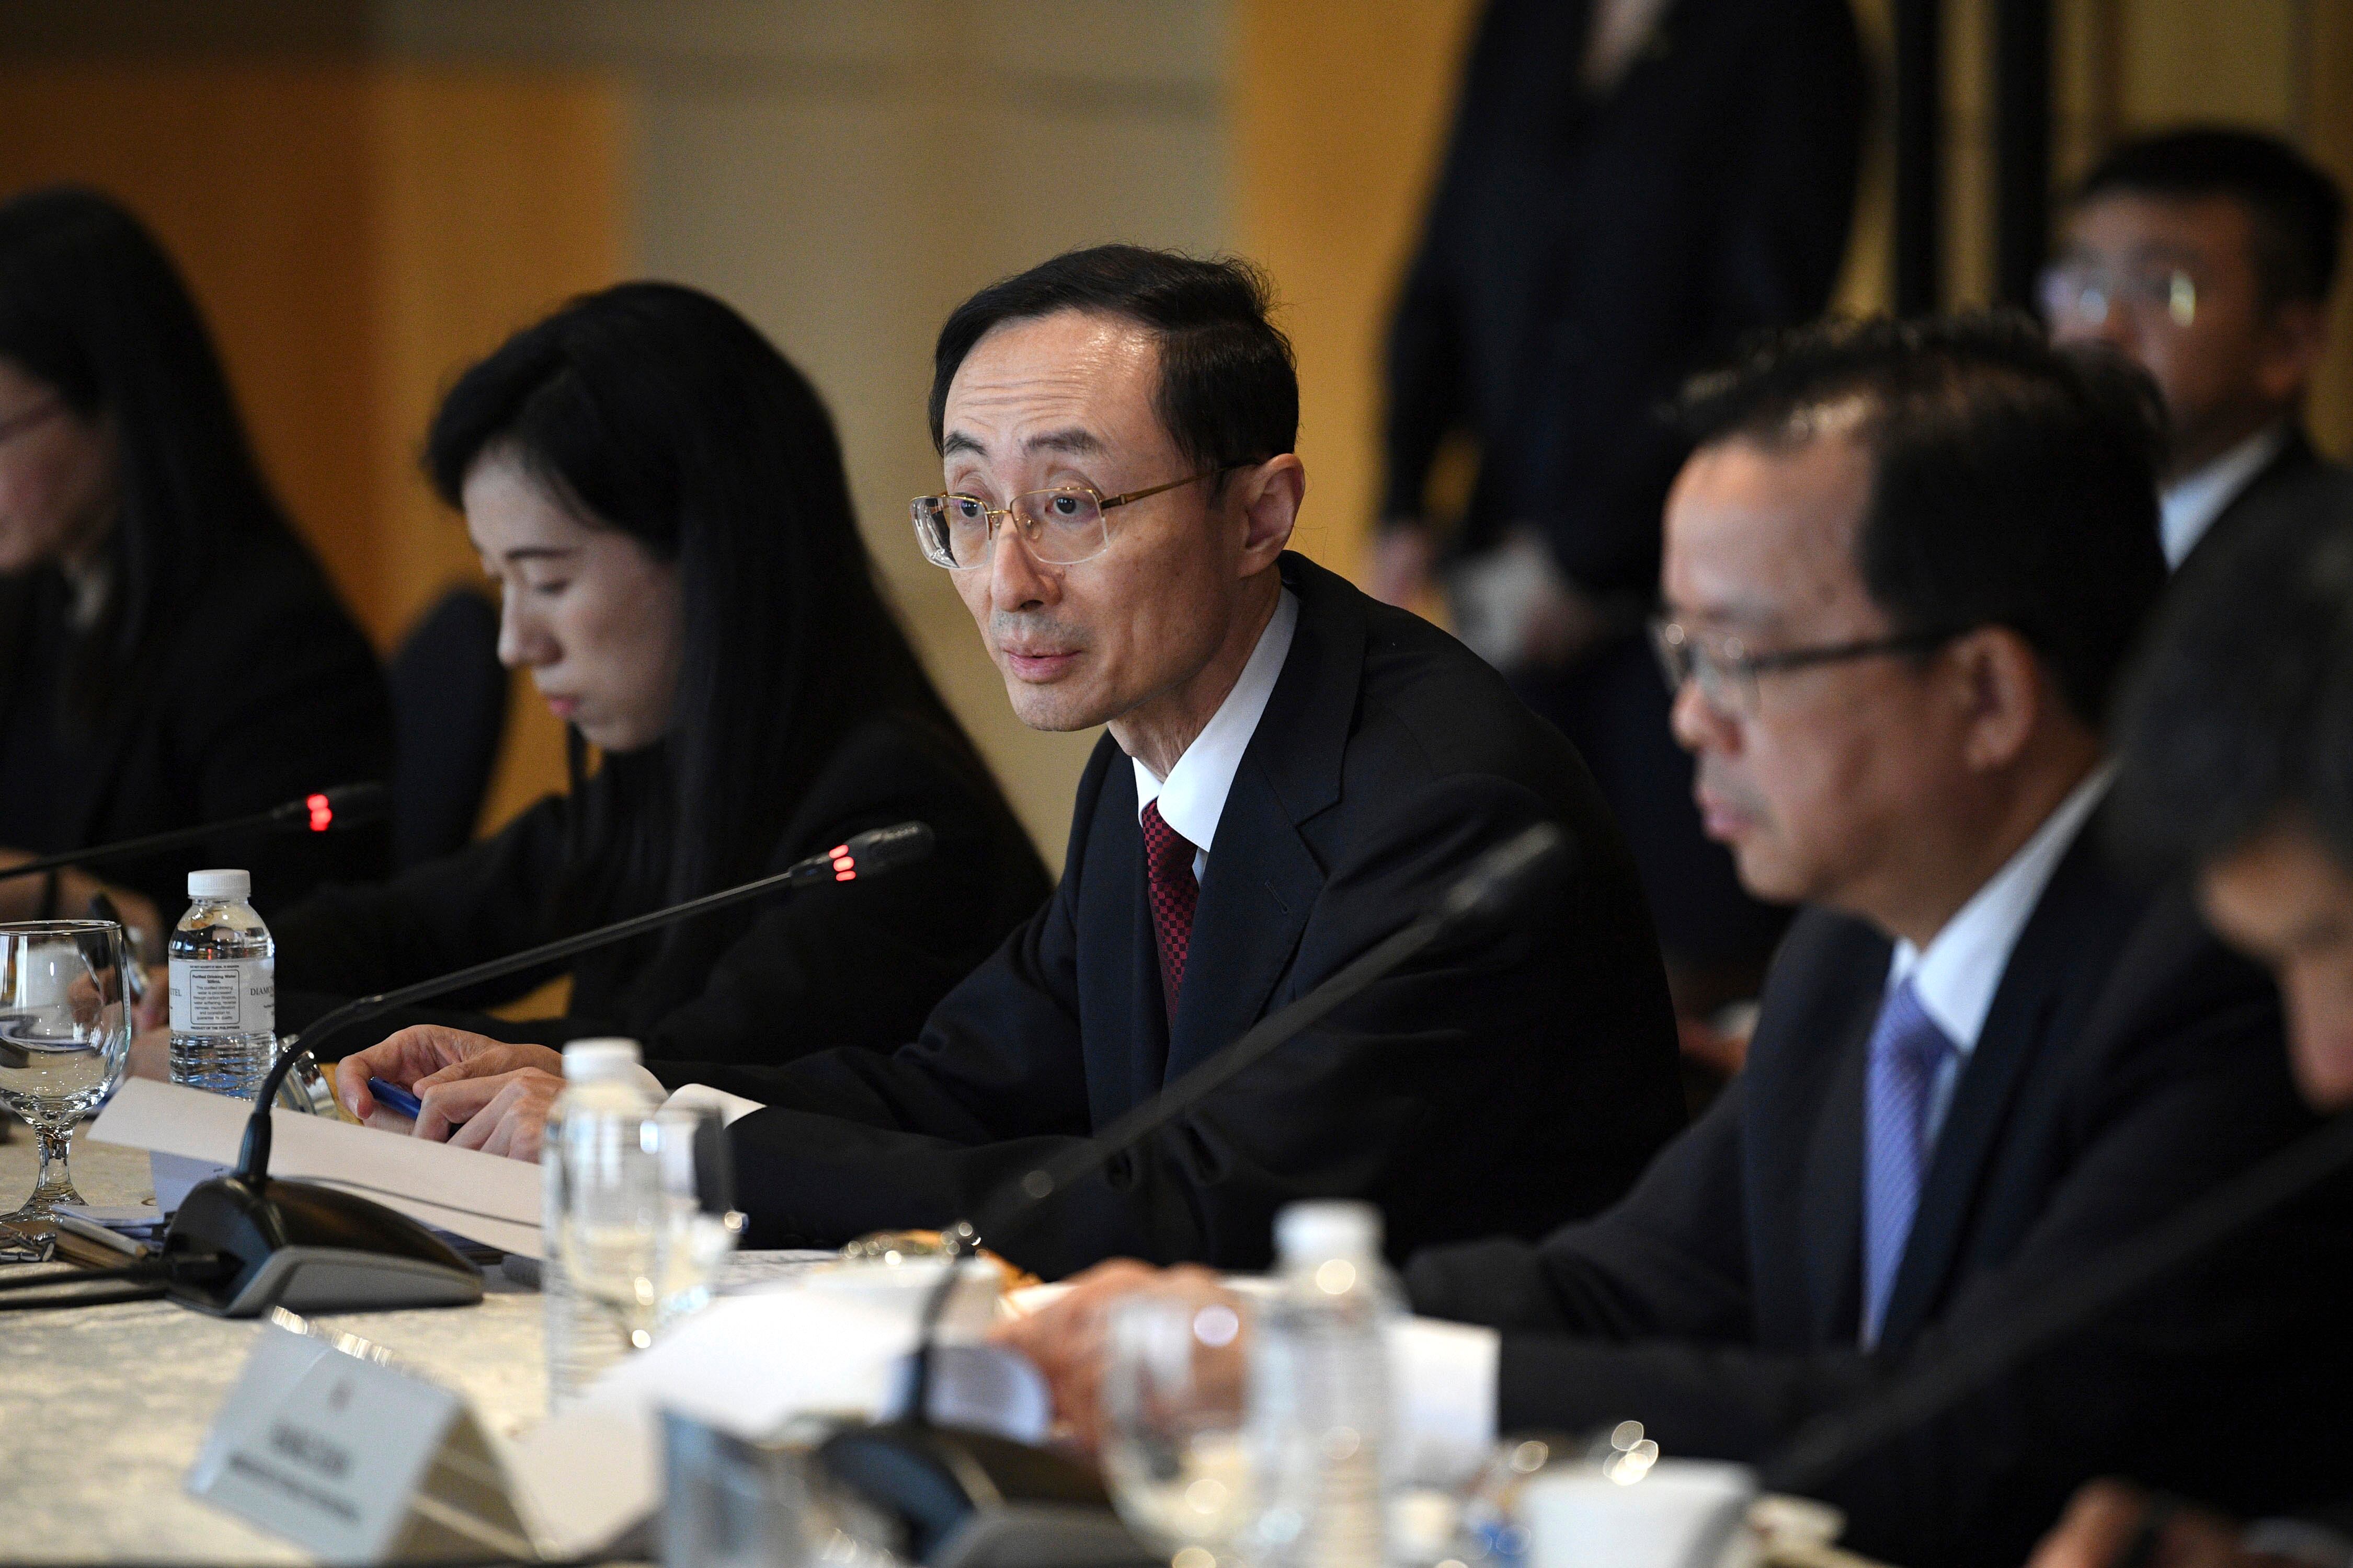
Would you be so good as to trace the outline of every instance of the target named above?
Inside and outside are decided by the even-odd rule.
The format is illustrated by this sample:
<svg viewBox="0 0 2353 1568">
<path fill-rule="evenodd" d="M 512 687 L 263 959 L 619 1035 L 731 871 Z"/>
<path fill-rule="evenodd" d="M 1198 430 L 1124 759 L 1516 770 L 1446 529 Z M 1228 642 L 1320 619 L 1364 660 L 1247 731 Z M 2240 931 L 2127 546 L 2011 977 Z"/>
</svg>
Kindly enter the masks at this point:
<svg viewBox="0 0 2353 1568">
<path fill-rule="evenodd" d="M 162 1239 L 219 1267 L 174 1279 L 167 1300 L 214 1316 L 468 1307 L 482 1272 L 405 1213 L 315 1182 L 216 1175 L 198 1182 Z"/>
</svg>

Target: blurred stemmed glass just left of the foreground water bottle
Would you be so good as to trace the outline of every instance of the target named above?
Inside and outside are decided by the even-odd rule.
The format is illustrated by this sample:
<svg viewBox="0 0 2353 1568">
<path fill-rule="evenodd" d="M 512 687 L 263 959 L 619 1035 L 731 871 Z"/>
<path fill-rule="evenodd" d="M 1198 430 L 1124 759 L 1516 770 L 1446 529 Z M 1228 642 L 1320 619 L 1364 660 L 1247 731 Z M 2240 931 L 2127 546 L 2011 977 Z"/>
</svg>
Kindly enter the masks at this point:
<svg viewBox="0 0 2353 1568">
<path fill-rule="evenodd" d="M 1207 1284 L 1115 1302 L 1106 1319 L 1104 1474 L 1120 1519 L 1179 1568 L 1235 1563 L 1249 1523 L 1242 1305 Z"/>
</svg>

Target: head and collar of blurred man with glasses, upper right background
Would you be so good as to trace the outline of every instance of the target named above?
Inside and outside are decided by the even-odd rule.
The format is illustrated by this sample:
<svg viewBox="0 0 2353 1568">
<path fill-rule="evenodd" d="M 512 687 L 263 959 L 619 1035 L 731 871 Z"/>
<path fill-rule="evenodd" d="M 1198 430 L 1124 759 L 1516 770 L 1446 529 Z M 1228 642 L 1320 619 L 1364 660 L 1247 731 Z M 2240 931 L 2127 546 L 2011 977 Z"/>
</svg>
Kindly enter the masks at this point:
<svg viewBox="0 0 2353 1568">
<path fill-rule="evenodd" d="M 2165 395 L 2165 559 L 2322 468 L 2301 425 L 2327 348 L 2344 197 L 2275 136 L 2181 129 L 2129 141 L 2075 190 L 2042 313 L 2061 343 L 2129 355 Z"/>
</svg>

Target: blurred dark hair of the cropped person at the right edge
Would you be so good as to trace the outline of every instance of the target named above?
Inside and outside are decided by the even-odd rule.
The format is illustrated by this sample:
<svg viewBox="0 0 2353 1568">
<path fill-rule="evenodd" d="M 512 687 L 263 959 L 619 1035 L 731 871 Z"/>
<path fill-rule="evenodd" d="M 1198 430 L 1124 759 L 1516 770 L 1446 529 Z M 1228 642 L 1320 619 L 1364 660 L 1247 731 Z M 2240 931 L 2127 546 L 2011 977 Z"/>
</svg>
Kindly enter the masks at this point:
<svg viewBox="0 0 2353 1568">
<path fill-rule="evenodd" d="M 2313 487 L 2191 559 L 2125 682 L 2111 835 L 2153 872 L 2285 813 L 2353 867 L 2353 487 Z"/>
</svg>

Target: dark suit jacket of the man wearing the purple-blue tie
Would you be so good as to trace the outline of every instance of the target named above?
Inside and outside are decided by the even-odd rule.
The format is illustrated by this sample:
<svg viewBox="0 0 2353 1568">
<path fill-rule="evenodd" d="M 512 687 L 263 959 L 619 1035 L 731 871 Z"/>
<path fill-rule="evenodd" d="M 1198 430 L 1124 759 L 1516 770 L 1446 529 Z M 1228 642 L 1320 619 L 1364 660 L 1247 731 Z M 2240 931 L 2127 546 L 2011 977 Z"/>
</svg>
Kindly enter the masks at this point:
<svg viewBox="0 0 2353 1568">
<path fill-rule="evenodd" d="M 1960 1074 L 1878 1354 L 1861 1314 L 1868 1034 L 1889 943 L 1807 912 L 1748 1070 L 1607 1215 L 1541 1246 L 1414 1260 L 1417 1309 L 1504 1328 L 1504 1429 L 1638 1418 L 1680 1455 L 1760 1458 L 1809 1415 L 1965 1345 L 2054 1274 L 2306 1131 L 2271 983 L 2188 900 L 2061 860 Z M 2068 1490 L 2134 1474 L 2249 1512 L 2332 1495 L 2344 1448 L 2344 1192 L 2184 1269 L 1826 1497 L 1871 1556 L 2014 1563 Z M 2337 1488 L 2341 1490 L 2341 1488 Z"/>
</svg>

